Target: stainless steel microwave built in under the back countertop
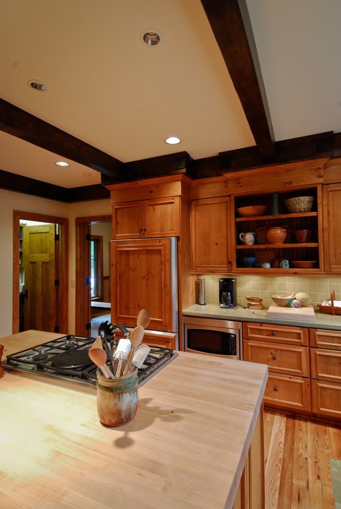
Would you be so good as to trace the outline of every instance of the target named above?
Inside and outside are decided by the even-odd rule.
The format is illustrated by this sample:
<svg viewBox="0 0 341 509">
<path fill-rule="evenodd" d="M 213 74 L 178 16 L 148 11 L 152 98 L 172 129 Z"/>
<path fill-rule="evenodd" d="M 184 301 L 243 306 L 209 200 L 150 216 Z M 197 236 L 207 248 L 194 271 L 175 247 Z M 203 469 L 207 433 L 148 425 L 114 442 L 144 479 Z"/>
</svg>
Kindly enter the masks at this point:
<svg viewBox="0 0 341 509">
<path fill-rule="evenodd" d="M 242 360 L 242 326 L 230 320 L 183 317 L 184 351 Z"/>
</svg>

